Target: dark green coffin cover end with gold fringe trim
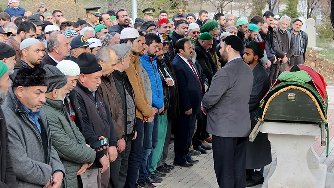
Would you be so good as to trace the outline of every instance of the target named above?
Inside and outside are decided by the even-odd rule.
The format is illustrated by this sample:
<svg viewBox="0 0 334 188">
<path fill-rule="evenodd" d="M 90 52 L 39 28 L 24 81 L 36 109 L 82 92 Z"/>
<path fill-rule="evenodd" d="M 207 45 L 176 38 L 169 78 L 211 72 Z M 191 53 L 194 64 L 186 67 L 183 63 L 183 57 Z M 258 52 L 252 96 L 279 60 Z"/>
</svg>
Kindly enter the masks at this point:
<svg viewBox="0 0 334 188">
<path fill-rule="evenodd" d="M 314 85 L 280 82 L 260 102 L 259 119 L 265 121 L 326 122 L 328 96 L 322 100 Z"/>
</svg>

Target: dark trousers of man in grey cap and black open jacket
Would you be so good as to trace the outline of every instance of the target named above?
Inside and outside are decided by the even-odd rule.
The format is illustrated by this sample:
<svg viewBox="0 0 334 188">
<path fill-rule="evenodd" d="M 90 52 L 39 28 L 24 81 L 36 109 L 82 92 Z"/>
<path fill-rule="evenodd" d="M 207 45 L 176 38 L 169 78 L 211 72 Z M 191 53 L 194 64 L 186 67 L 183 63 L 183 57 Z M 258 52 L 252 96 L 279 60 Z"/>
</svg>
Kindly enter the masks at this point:
<svg viewBox="0 0 334 188">
<path fill-rule="evenodd" d="M 125 141 L 125 150 L 118 153 L 116 160 L 110 163 L 110 179 L 108 188 L 124 188 L 126 176 L 128 174 L 128 160 L 131 151 L 131 134 Z"/>
</svg>

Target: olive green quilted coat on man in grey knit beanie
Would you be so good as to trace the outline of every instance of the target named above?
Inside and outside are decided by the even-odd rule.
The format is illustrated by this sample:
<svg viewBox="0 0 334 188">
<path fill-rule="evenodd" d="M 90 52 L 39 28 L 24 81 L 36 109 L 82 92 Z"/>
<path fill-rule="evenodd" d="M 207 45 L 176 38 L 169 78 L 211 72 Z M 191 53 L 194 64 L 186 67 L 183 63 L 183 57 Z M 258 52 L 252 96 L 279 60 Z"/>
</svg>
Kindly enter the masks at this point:
<svg viewBox="0 0 334 188">
<path fill-rule="evenodd" d="M 44 111 L 50 126 L 52 145 L 65 167 L 65 187 L 77 188 L 77 171 L 83 163 L 95 160 L 95 151 L 86 146 L 85 138 L 71 121 L 64 102 L 46 98 Z"/>
</svg>

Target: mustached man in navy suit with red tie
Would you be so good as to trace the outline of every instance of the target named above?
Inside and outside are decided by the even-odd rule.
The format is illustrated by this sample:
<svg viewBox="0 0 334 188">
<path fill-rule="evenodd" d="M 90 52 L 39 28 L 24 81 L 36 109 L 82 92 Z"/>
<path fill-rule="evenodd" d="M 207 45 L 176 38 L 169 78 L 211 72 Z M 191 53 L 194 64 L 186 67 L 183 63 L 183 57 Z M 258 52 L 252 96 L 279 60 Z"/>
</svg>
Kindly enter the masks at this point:
<svg viewBox="0 0 334 188">
<path fill-rule="evenodd" d="M 172 64 L 179 87 L 180 124 L 175 126 L 174 165 L 191 167 L 198 162 L 189 155 L 189 147 L 195 130 L 196 114 L 200 113 L 204 87 L 196 66 L 189 59 L 194 53 L 190 40 L 179 39 L 175 43 L 175 51 L 177 55 Z"/>
</svg>

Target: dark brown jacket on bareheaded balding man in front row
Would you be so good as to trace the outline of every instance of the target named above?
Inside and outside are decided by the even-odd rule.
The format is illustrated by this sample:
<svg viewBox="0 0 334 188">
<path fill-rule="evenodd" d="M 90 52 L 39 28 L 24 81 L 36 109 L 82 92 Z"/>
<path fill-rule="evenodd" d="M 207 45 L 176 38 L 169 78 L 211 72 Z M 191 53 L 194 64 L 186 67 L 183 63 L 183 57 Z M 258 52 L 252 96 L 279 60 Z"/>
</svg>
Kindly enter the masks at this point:
<svg viewBox="0 0 334 188">
<path fill-rule="evenodd" d="M 117 140 L 120 140 L 124 136 L 124 114 L 122 100 L 117 92 L 113 75 L 101 77 L 101 85 L 98 91 L 107 103 L 113 118 Z"/>
</svg>

